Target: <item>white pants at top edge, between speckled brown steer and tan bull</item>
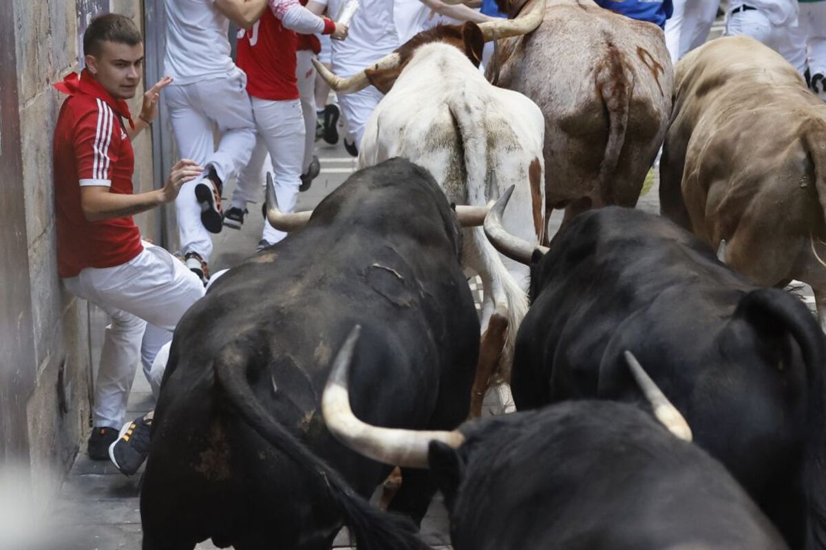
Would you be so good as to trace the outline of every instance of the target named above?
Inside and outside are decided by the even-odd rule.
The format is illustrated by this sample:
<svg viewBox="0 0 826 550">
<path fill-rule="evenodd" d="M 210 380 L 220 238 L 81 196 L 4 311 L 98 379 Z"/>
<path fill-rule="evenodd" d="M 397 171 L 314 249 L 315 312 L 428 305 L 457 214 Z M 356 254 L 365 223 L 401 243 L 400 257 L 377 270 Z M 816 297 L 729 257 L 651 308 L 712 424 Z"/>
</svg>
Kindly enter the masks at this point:
<svg viewBox="0 0 826 550">
<path fill-rule="evenodd" d="M 703 45 L 717 16 L 719 0 L 673 0 L 674 12 L 666 20 L 666 47 L 676 63 Z"/>
</svg>

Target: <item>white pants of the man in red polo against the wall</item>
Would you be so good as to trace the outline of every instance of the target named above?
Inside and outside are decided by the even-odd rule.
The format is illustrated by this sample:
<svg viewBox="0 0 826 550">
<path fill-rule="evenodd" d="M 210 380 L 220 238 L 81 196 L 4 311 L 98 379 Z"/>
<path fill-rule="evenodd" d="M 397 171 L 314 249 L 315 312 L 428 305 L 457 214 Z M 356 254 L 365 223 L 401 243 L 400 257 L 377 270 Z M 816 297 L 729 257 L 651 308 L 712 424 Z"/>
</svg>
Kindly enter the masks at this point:
<svg viewBox="0 0 826 550">
<path fill-rule="evenodd" d="M 155 355 L 172 339 L 183 313 L 204 294 L 201 280 L 181 261 L 161 247 L 143 244 L 144 250 L 125 264 L 87 267 L 63 280 L 70 293 L 97 304 L 110 317 L 95 384 L 95 427 L 123 424 L 139 356 L 157 393 L 159 380 L 150 376 Z"/>
</svg>

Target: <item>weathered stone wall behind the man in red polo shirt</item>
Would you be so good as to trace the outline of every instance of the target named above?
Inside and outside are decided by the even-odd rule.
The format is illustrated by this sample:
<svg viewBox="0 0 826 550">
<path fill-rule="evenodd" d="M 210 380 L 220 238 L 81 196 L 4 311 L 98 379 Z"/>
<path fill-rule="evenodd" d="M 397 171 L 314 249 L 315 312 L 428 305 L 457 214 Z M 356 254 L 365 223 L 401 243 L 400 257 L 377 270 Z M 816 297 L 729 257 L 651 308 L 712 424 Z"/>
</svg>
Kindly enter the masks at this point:
<svg viewBox="0 0 826 550">
<path fill-rule="evenodd" d="M 26 407 L 32 479 L 36 472 L 64 472 L 85 444 L 92 393 L 89 306 L 74 299 L 57 275 L 52 135 L 64 97 L 52 87 L 78 70 L 78 23 L 91 9 L 122 13 L 142 26 L 141 0 L 12 0 L 35 388 Z M 81 14 L 81 15 L 78 15 Z M 140 109 L 142 90 L 131 107 Z M 135 148 L 135 192 L 154 186 L 151 136 L 143 132 Z M 159 211 L 136 218 L 145 237 L 159 240 Z M 94 358 L 97 360 L 97 357 Z M 43 479 L 52 477 L 44 476 Z M 59 476 L 58 476 L 59 478 Z M 39 487 L 48 489 L 49 487 Z"/>
</svg>

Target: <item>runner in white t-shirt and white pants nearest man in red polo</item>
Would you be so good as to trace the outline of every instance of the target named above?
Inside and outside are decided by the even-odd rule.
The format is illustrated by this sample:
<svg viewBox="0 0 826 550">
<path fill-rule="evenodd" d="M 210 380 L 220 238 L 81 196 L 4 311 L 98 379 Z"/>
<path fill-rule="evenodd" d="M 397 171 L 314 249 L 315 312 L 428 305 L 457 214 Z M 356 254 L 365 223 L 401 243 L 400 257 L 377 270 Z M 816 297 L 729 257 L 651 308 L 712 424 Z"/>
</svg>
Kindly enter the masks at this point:
<svg viewBox="0 0 826 550">
<path fill-rule="evenodd" d="M 166 93 L 178 152 L 207 167 L 205 176 L 184 186 L 175 202 L 181 251 L 192 272 L 206 283 L 212 240 L 222 227 L 223 182 L 249 161 L 255 123 L 246 75 L 230 58 L 230 21 L 246 28 L 267 0 L 165 0 L 165 73 L 174 81 Z M 216 150 L 213 125 L 221 134 Z"/>
</svg>

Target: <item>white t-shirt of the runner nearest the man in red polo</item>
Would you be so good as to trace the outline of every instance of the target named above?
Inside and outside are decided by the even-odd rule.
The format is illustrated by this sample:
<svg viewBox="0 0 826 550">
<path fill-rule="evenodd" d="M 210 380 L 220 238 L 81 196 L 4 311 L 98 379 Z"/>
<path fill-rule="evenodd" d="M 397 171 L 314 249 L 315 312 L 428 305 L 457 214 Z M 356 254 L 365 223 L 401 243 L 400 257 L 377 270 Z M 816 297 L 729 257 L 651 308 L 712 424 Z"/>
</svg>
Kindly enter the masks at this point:
<svg viewBox="0 0 826 550">
<path fill-rule="evenodd" d="M 221 77 L 235 68 L 230 57 L 230 20 L 215 0 L 164 0 L 166 56 L 164 74 L 175 84 Z"/>
</svg>

